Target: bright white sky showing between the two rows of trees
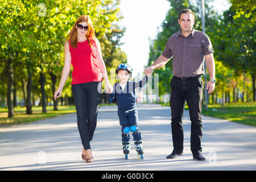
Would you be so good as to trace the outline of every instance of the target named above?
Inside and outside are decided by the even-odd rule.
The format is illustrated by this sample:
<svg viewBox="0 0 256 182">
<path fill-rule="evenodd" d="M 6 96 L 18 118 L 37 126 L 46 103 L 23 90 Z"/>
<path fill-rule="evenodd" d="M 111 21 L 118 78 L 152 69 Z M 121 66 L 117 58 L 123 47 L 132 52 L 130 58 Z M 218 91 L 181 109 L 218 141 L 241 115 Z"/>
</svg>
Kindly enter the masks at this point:
<svg viewBox="0 0 256 182">
<path fill-rule="evenodd" d="M 219 2 L 219 0 L 213 2 L 217 11 L 229 9 L 227 0 L 222 1 L 221 5 Z M 138 73 L 142 75 L 144 72 L 144 65 L 148 62 L 149 38 L 155 39 L 158 27 L 159 31 L 161 30 L 160 25 L 170 9 L 170 2 L 167 0 L 121 0 L 119 7 L 124 18 L 118 24 L 126 27 L 126 32 L 121 39 L 124 43 L 121 49 L 125 51 L 127 64 L 133 68 L 133 77 L 135 77 Z M 211 11 L 212 14 L 214 12 L 216 11 Z"/>
</svg>

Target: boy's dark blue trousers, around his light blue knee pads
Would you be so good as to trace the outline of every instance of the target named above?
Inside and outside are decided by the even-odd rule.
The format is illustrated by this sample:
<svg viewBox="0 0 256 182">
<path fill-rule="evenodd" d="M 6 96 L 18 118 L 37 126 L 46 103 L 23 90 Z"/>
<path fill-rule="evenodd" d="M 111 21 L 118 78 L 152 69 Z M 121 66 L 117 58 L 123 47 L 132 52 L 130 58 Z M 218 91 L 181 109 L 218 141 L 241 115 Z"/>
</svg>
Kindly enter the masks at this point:
<svg viewBox="0 0 256 182">
<path fill-rule="evenodd" d="M 136 125 L 138 127 L 138 111 L 137 109 L 125 112 L 122 109 L 118 108 L 118 117 L 120 125 L 122 126 L 122 142 L 128 142 L 130 140 L 130 133 L 123 134 L 123 129 L 125 129 L 127 126 L 133 126 Z M 133 133 L 133 140 L 141 140 L 141 131 L 139 129 L 136 133 Z"/>
</svg>

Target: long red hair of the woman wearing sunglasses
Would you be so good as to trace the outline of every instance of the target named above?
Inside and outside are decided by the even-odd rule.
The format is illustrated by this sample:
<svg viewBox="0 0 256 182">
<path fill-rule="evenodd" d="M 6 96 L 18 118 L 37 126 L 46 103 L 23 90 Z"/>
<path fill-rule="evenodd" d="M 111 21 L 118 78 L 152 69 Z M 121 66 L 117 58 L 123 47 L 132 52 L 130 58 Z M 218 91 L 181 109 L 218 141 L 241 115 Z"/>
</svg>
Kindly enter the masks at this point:
<svg viewBox="0 0 256 182">
<path fill-rule="evenodd" d="M 88 23 L 88 32 L 86 34 L 86 39 L 92 47 L 92 42 L 90 40 L 94 40 L 96 42 L 96 36 L 94 33 L 94 29 L 92 26 L 92 20 L 90 20 L 90 16 L 88 15 L 81 15 L 79 18 L 77 18 L 76 23 L 74 24 L 72 30 L 69 32 L 67 36 L 67 41 L 71 44 L 71 47 L 77 48 L 77 29 L 76 29 L 76 24 L 81 23 L 81 22 L 87 22 Z"/>
</svg>

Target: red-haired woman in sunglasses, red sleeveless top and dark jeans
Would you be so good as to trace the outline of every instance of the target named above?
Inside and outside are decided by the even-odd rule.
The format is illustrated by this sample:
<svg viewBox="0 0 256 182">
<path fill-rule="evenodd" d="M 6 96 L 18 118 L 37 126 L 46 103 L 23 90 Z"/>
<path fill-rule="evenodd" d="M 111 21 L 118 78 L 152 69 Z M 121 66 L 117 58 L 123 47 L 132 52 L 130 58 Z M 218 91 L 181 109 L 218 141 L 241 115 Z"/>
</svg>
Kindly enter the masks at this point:
<svg viewBox="0 0 256 182">
<path fill-rule="evenodd" d="M 59 88 L 54 98 L 59 98 L 67 81 L 71 64 L 72 94 L 76 105 L 77 127 L 82 140 L 82 159 L 93 162 L 90 140 L 96 129 L 98 105 L 101 97 L 102 77 L 106 81 L 107 92 L 110 93 L 108 75 L 102 59 L 100 43 L 94 34 L 92 20 L 82 15 L 74 24 L 65 43 L 65 62 Z"/>
</svg>

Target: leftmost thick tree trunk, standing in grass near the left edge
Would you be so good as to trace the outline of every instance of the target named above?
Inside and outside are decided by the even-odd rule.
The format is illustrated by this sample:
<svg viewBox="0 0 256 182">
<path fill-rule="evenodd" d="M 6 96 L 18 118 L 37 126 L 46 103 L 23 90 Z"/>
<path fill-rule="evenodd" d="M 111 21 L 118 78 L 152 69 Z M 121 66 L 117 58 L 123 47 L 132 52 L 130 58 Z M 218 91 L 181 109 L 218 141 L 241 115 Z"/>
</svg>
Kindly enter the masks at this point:
<svg viewBox="0 0 256 182">
<path fill-rule="evenodd" d="M 13 61 L 7 60 L 7 72 L 8 72 L 8 87 L 7 87 L 7 105 L 8 105 L 8 117 L 14 117 L 13 110 Z"/>
</svg>

